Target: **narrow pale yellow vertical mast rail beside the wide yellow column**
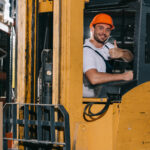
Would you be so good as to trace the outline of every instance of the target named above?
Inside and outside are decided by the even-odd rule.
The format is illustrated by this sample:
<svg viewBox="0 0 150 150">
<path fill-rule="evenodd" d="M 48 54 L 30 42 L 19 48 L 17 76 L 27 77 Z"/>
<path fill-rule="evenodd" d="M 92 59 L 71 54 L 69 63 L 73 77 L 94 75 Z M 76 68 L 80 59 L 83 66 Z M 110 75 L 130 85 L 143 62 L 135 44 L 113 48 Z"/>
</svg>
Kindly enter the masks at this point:
<svg viewBox="0 0 150 150">
<path fill-rule="evenodd" d="M 59 75 L 60 75 L 60 0 L 54 1 L 53 12 L 53 82 L 52 99 L 53 104 L 59 103 Z"/>
</svg>

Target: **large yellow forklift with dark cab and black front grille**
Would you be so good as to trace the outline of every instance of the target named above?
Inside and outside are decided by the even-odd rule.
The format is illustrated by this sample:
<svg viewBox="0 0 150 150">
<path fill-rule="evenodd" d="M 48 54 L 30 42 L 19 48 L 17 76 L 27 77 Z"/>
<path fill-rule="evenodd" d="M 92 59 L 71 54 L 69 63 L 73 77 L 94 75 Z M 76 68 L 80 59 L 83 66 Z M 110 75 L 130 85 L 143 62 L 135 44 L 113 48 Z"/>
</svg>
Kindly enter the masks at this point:
<svg viewBox="0 0 150 150">
<path fill-rule="evenodd" d="M 16 0 L 15 77 L 3 108 L 3 149 L 150 150 L 149 0 Z M 83 43 L 98 13 L 112 16 L 112 37 L 134 54 L 115 61 L 132 81 L 83 97 Z M 123 68 L 123 69 L 122 69 Z"/>
</svg>

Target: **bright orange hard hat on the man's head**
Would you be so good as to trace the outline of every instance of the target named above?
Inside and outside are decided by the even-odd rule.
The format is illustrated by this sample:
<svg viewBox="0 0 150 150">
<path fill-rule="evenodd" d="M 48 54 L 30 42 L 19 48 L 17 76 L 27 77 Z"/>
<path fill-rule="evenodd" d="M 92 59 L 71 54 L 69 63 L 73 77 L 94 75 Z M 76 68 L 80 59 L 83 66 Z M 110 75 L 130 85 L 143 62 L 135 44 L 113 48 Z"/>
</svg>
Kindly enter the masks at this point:
<svg viewBox="0 0 150 150">
<path fill-rule="evenodd" d="M 93 18 L 92 22 L 90 23 L 90 28 L 93 25 L 98 24 L 98 23 L 109 24 L 111 26 L 111 30 L 113 30 L 115 28 L 111 16 L 109 16 L 108 14 L 105 14 L 105 13 L 100 13 L 100 14 L 96 15 Z"/>
</svg>

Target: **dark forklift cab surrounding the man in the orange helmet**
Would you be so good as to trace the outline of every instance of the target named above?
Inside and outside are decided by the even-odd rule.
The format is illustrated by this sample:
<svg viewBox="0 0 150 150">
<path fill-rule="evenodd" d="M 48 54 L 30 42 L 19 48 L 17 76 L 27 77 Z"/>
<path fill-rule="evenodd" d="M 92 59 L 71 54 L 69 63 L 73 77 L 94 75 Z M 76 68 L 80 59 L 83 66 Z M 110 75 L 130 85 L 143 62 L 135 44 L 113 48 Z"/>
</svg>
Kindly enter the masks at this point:
<svg viewBox="0 0 150 150">
<path fill-rule="evenodd" d="M 108 97 L 121 100 L 121 96 L 133 87 L 149 80 L 150 76 L 150 2 L 148 0 L 91 0 L 84 10 L 84 39 L 89 38 L 89 24 L 98 13 L 109 14 L 114 21 L 115 30 L 111 36 L 120 48 L 130 50 L 134 60 L 130 63 L 114 60 L 113 73 L 132 70 L 132 81 L 117 81 L 97 85 L 101 89 L 99 98 Z M 144 37 L 144 38 L 142 38 Z M 110 41 L 111 42 L 111 41 Z M 100 88 L 99 88 L 100 87 Z M 94 87 L 95 88 L 95 87 Z M 96 96 L 97 97 L 97 96 Z"/>
</svg>

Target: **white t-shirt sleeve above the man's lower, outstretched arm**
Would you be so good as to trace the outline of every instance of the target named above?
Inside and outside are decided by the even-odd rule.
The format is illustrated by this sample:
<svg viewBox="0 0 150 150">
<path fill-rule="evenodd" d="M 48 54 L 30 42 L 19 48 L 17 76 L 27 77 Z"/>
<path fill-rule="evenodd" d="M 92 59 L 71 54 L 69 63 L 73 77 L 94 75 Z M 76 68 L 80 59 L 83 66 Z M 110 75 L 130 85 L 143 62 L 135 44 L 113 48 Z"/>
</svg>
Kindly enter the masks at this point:
<svg viewBox="0 0 150 150">
<path fill-rule="evenodd" d="M 96 69 L 94 52 L 88 48 L 83 50 L 83 73 L 90 69 Z"/>
</svg>

